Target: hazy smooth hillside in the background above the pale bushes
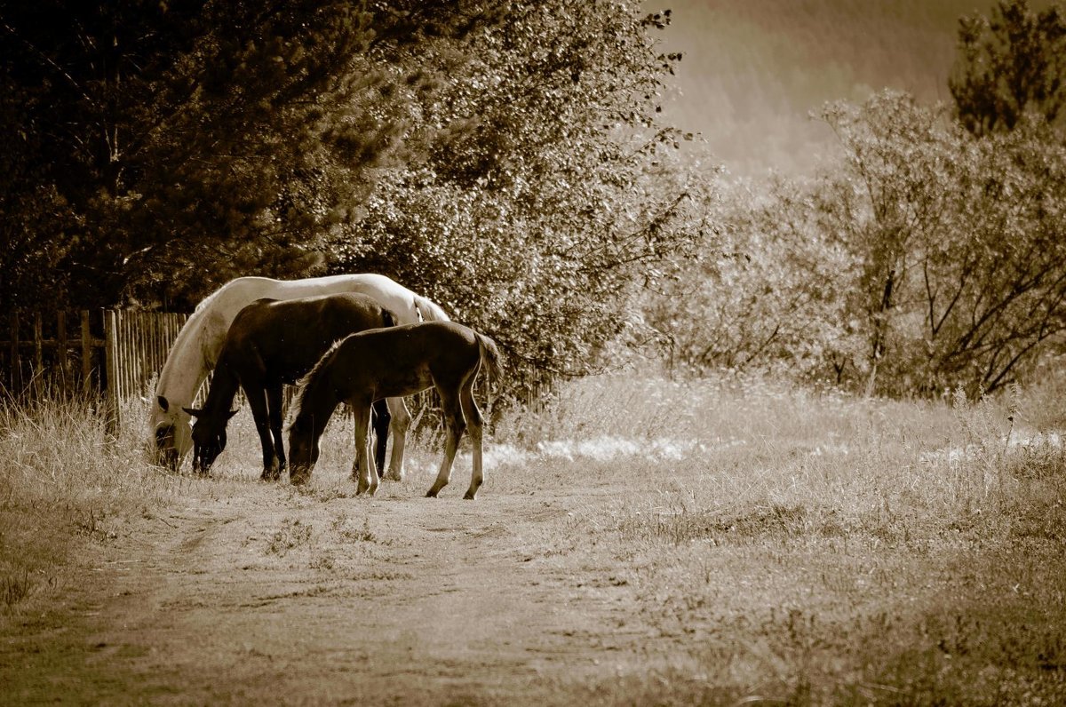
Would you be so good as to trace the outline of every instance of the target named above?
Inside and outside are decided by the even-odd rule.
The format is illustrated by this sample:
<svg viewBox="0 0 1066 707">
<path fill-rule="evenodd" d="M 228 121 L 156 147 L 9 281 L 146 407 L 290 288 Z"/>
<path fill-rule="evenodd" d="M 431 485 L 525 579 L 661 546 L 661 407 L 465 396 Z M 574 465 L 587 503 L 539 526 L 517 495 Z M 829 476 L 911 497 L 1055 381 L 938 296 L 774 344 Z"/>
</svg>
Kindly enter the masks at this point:
<svg viewBox="0 0 1066 707">
<path fill-rule="evenodd" d="M 1032 2 L 1044 6 L 1046 2 Z M 809 172 L 835 149 L 812 120 L 826 101 L 889 86 L 948 101 L 962 15 L 990 0 L 662 0 L 674 21 L 662 49 L 682 51 L 664 112 L 701 133 L 738 175 Z"/>
</svg>

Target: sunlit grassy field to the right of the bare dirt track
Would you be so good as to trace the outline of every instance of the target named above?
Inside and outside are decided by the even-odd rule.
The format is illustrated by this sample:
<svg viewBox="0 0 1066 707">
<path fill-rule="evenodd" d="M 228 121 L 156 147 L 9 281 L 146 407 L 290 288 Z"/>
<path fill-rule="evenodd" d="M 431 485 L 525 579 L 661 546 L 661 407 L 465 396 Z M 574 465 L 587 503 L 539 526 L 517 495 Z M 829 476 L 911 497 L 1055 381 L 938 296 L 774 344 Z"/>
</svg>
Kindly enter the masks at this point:
<svg viewBox="0 0 1066 707">
<path fill-rule="evenodd" d="M 634 623 L 678 646 L 589 702 L 1066 700 L 1066 451 L 1044 391 L 893 402 L 608 377 L 556 396 L 501 438 L 548 454 L 552 435 L 599 439 L 538 468 L 608 491 L 546 553 L 611 567 Z"/>
</svg>

